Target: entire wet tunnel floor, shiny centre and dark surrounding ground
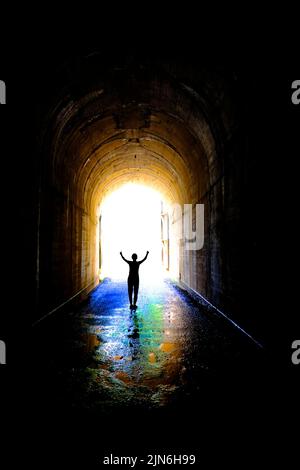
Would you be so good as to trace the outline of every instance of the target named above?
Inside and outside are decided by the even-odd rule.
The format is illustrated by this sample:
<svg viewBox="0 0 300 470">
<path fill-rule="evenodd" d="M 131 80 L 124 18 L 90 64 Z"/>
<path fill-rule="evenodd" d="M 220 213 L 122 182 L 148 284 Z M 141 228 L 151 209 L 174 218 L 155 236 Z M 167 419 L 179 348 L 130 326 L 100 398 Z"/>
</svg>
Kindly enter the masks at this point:
<svg viewBox="0 0 300 470">
<path fill-rule="evenodd" d="M 264 352 L 170 283 L 142 284 L 138 305 L 130 312 L 126 283 L 104 282 L 34 330 L 33 442 L 46 447 L 38 455 L 48 461 L 57 447 L 55 464 L 64 452 L 76 467 L 80 454 L 85 468 L 103 449 L 196 449 L 209 464 L 238 455 L 240 468 L 236 449 L 251 456 L 253 436 L 265 446 L 262 416 L 278 417 L 277 370 L 272 379 Z"/>
</svg>

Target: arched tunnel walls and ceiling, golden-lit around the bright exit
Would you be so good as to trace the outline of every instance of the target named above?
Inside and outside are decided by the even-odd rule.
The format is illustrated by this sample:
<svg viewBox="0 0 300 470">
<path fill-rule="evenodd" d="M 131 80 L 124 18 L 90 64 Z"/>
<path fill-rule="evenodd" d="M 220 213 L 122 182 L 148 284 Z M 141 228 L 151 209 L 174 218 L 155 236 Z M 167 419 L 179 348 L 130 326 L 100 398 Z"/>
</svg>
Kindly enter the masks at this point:
<svg viewBox="0 0 300 470">
<path fill-rule="evenodd" d="M 101 202 L 126 182 L 168 201 L 177 280 L 240 319 L 245 143 L 234 77 L 91 54 L 54 80 L 57 93 L 39 116 L 36 319 L 99 282 Z M 203 249 L 187 251 L 182 240 L 175 249 L 174 204 L 191 204 L 193 218 L 204 205 Z"/>
</svg>

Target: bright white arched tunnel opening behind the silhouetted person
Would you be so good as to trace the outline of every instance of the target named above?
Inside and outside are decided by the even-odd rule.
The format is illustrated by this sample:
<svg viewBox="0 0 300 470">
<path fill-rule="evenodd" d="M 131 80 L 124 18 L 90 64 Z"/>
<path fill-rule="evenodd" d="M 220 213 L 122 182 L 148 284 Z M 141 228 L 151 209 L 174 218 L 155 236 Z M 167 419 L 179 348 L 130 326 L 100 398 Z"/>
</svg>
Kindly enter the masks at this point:
<svg viewBox="0 0 300 470">
<path fill-rule="evenodd" d="M 127 279 L 128 264 L 136 253 L 141 260 L 140 282 L 154 282 L 163 276 L 161 241 L 162 196 L 143 185 L 128 183 L 108 195 L 101 205 L 100 277 Z"/>
</svg>

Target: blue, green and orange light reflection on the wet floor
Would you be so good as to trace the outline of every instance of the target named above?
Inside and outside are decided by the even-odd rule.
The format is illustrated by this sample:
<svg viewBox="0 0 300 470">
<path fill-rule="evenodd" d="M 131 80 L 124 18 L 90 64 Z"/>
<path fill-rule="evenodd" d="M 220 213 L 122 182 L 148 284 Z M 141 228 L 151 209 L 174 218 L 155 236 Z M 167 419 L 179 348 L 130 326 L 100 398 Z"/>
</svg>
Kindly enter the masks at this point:
<svg viewBox="0 0 300 470">
<path fill-rule="evenodd" d="M 114 389 L 112 397 L 118 402 L 150 400 L 163 405 L 180 386 L 185 370 L 179 298 L 176 302 L 166 286 L 147 286 L 138 309 L 130 310 L 125 283 L 101 287 L 91 299 L 93 313 L 81 316 L 82 341 L 93 352 L 98 369 L 93 375 L 103 392 Z"/>
</svg>

